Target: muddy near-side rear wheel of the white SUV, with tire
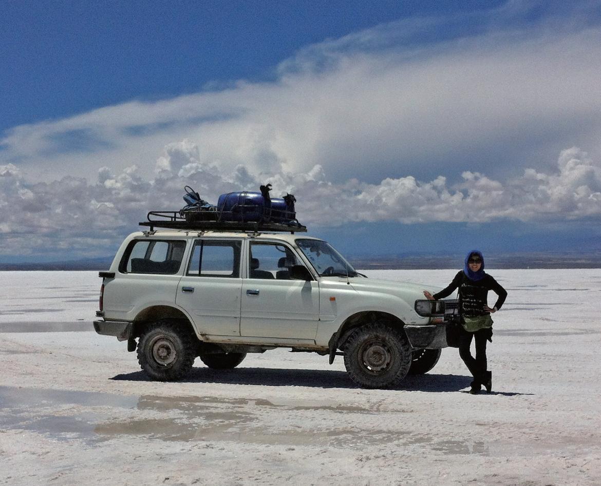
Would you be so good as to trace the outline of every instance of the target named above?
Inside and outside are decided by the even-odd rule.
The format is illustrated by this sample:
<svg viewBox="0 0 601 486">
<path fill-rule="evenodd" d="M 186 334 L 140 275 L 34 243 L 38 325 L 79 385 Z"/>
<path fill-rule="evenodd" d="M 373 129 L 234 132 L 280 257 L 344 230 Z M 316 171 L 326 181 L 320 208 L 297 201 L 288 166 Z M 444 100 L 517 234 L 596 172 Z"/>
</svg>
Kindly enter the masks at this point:
<svg viewBox="0 0 601 486">
<path fill-rule="evenodd" d="M 192 369 L 196 346 L 196 336 L 185 324 L 162 319 L 140 336 L 138 363 L 153 380 L 181 380 Z"/>
</svg>

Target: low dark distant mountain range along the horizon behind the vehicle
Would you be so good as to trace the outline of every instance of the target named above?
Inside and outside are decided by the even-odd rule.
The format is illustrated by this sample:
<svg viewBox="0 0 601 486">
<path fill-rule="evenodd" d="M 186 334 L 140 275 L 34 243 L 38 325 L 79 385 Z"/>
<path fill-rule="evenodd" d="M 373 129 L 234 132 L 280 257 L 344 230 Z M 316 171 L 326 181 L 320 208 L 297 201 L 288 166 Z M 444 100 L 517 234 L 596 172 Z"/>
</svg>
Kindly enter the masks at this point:
<svg viewBox="0 0 601 486">
<path fill-rule="evenodd" d="M 349 255 L 356 269 L 459 269 L 465 255 L 404 254 Z M 489 269 L 594 269 L 601 268 L 601 252 L 588 254 L 508 253 L 487 257 Z M 113 257 L 41 263 L 0 263 L 0 270 L 108 270 Z"/>
</svg>

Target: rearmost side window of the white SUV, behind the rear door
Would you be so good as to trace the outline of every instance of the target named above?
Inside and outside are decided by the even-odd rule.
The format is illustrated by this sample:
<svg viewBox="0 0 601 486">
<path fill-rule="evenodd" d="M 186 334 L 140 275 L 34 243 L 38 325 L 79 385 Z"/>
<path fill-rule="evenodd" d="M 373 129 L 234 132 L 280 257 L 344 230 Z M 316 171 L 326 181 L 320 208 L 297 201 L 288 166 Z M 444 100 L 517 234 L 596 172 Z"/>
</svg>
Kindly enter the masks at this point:
<svg viewBox="0 0 601 486">
<path fill-rule="evenodd" d="M 134 240 L 119 266 L 121 273 L 160 273 L 172 275 L 182 266 L 186 241 Z"/>
</svg>

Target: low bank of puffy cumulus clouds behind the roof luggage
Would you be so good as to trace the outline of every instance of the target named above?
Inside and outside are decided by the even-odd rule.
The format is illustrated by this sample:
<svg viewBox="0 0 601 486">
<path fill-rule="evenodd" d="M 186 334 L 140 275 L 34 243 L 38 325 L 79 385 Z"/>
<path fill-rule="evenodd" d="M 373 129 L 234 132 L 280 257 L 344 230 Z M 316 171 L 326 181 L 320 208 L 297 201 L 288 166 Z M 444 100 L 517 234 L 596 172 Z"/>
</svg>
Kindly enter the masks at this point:
<svg viewBox="0 0 601 486">
<path fill-rule="evenodd" d="M 119 174 L 103 167 L 94 182 L 67 176 L 50 183 L 29 183 L 16 166 L 0 166 L 0 254 L 68 249 L 72 255 L 106 255 L 138 228 L 147 211 L 182 208 L 186 184 L 216 204 L 221 193 L 271 183 L 274 196 L 294 193 L 297 216 L 310 227 L 388 220 L 601 219 L 601 164 L 576 147 L 561 151 L 553 172 L 528 168 L 501 181 L 465 171 L 456 184 L 443 175 L 426 182 L 410 175 L 377 184 L 354 178 L 335 182 L 319 165 L 265 178 L 243 167 L 230 172 L 201 163 L 198 146 L 189 141 L 167 145 L 157 166 L 160 171 L 150 179 L 135 166 Z"/>
</svg>

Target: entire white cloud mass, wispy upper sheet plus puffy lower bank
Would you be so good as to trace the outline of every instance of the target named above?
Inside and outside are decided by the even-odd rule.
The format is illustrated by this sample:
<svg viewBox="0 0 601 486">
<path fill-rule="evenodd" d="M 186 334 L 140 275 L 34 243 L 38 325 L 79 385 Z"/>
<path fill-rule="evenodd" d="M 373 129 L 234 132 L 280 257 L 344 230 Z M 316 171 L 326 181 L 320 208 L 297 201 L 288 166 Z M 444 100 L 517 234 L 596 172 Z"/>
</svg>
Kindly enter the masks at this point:
<svg viewBox="0 0 601 486">
<path fill-rule="evenodd" d="M 601 28 L 510 30 L 516 5 L 477 34 L 421 44 L 457 19 L 404 20 L 308 46 L 273 82 L 15 127 L 0 254 L 106 255 L 186 184 L 216 202 L 272 183 L 308 225 L 599 219 Z"/>
</svg>

